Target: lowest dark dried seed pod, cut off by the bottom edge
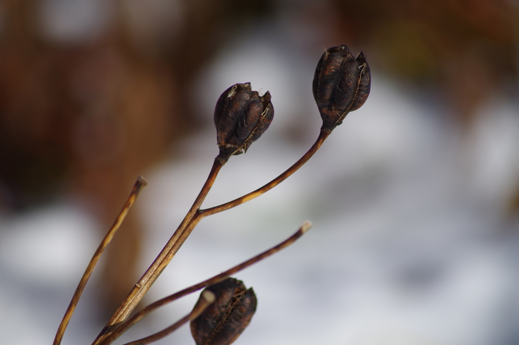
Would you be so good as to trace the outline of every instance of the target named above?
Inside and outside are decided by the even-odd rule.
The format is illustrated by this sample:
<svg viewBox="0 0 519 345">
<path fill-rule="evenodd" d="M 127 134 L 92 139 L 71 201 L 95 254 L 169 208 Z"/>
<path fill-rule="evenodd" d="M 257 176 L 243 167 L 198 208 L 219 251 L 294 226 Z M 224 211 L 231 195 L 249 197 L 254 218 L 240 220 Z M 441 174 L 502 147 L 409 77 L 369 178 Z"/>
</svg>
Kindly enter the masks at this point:
<svg viewBox="0 0 519 345">
<path fill-rule="evenodd" d="M 228 345 L 249 325 L 256 311 L 256 295 L 252 287 L 245 289 L 243 282 L 235 278 L 208 286 L 207 290 L 216 300 L 191 321 L 191 334 L 197 345 Z"/>
</svg>

